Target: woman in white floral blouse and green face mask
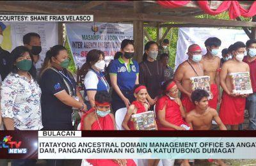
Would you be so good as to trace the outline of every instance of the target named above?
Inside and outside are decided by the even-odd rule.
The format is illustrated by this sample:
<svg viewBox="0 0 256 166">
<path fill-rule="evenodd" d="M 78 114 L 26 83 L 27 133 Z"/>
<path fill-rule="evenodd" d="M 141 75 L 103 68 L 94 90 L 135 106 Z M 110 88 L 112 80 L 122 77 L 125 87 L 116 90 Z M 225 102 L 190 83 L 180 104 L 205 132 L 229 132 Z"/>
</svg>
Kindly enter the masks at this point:
<svg viewBox="0 0 256 166">
<path fill-rule="evenodd" d="M 1 114 L 6 130 L 40 130 L 41 89 L 35 81 L 35 68 L 24 46 L 11 52 L 12 72 L 1 86 Z M 12 160 L 12 165 L 35 165 L 36 160 Z"/>
</svg>

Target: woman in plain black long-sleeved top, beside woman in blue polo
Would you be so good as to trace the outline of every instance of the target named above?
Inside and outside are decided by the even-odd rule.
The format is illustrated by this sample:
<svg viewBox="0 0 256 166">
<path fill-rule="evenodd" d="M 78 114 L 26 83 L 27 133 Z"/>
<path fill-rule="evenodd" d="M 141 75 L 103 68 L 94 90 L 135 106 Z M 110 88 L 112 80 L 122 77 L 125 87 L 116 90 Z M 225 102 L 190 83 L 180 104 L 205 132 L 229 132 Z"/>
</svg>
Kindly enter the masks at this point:
<svg viewBox="0 0 256 166">
<path fill-rule="evenodd" d="M 154 105 L 161 89 L 161 82 L 164 81 L 164 68 L 160 61 L 156 61 L 158 46 L 154 41 L 145 45 L 143 61 L 140 63 L 140 84 L 148 89 L 148 102 Z"/>
</svg>

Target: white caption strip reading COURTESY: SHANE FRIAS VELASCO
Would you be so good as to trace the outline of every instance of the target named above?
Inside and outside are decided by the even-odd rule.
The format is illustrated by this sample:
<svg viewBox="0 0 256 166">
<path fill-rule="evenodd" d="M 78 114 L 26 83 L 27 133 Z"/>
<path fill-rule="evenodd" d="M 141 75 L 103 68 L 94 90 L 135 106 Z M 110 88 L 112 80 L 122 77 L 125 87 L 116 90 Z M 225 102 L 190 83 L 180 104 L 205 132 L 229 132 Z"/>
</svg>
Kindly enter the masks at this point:
<svg viewBox="0 0 256 166">
<path fill-rule="evenodd" d="M 0 15 L 0 22 L 93 22 L 93 15 Z"/>
</svg>

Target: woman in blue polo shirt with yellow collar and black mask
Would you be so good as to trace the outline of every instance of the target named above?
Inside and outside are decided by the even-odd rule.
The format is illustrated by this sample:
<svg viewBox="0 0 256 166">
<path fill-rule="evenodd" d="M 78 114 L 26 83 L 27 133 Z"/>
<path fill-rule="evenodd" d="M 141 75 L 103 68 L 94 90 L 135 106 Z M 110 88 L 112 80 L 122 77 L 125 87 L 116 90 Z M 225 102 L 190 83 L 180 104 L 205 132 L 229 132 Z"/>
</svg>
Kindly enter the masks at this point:
<svg viewBox="0 0 256 166">
<path fill-rule="evenodd" d="M 115 59 L 109 66 L 109 75 L 113 87 L 114 111 L 123 107 L 128 108 L 134 101 L 133 89 L 139 84 L 139 65 L 132 60 L 134 56 L 134 43 L 132 40 L 123 40 L 121 43 L 122 56 Z"/>
</svg>

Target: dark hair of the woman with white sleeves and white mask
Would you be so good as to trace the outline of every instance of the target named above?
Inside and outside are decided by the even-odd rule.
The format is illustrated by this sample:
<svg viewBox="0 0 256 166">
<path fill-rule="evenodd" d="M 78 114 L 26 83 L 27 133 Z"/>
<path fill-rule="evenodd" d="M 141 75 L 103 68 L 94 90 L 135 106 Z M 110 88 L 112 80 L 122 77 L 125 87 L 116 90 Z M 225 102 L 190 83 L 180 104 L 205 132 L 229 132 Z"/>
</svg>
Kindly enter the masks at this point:
<svg viewBox="0 0 256 166">
<path fill-rule="evenodd" d="M 77 72 L 78 75 L 86 75 L 88 70 L 92 68 L 93 64 L 97 63 L 100 59 L 100 55 L 104 57 L 104 52 L 101 50 L 93 49 L 87 53 L 86 63 L 83 64 L 81 69 Z"/>
</svg>

